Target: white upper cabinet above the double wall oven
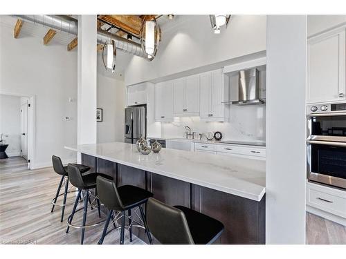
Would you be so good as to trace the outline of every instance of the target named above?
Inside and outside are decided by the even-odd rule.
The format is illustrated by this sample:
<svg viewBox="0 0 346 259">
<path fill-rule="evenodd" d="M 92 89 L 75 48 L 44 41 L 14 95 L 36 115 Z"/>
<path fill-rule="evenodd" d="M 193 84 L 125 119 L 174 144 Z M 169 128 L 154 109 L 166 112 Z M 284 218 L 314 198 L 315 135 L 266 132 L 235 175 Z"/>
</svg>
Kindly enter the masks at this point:
<svg viewBox="0 0 346 259">
<path fill-rule="evenodd" d="M 308 40 L 308 104 L 345 100 L 345 47 L 345 27 Z"/>
</svg>

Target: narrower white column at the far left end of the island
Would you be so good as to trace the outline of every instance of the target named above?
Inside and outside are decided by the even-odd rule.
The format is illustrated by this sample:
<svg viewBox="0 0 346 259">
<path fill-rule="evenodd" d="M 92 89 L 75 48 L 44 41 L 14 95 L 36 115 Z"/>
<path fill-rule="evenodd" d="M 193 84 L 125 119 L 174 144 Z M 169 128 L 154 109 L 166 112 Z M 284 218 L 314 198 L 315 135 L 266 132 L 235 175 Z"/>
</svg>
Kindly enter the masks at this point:
<svg viewBox="0 0 346 259">
<path fill-rule="evenodd" d="M 96 143 L 96 15 L 78 17 L 78 144 Z"/>
</svg>

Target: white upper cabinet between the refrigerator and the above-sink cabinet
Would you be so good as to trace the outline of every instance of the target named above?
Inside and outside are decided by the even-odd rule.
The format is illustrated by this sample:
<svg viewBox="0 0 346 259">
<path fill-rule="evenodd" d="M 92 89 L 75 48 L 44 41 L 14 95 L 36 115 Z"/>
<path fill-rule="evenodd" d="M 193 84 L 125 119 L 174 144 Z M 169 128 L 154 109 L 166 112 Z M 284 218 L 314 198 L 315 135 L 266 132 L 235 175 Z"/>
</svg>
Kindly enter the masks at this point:
<svg viewBox="0 0 346 259">
<path fill-rule="evenodd" d="M 165 81 L 155 85 L 155 120 L 161 122 L 173 119 L 173 83 Z"/>
</svg>

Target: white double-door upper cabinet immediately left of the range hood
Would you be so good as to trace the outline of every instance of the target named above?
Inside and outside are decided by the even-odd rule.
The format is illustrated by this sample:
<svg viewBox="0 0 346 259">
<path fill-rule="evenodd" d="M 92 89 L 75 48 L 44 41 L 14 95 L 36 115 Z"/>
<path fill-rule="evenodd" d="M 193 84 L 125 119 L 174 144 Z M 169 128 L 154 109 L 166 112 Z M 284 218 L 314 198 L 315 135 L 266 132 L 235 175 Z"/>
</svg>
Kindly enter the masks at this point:
<svg viewBox="0 0 346 259">
<path fill-rule="evenodd" d="M 206 121 L 224 121 L 224 90 L 222 70 L 214 70 L 200 75 L 201 103 L 200 116 Z"/>
</svg>

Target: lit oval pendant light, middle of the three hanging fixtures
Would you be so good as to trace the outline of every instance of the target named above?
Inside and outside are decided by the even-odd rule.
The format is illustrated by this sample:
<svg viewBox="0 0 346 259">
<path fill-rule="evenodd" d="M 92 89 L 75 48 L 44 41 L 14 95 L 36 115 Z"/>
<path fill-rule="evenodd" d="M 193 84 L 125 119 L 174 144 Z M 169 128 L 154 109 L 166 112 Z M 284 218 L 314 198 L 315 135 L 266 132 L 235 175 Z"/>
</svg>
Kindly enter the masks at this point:
<svg viewBox="0 0 346 259">
<path fill-rule="evenodd" d="M 140 28 L 140 44 L 143 51 L 147 53 L 147 59 L 152 61 L 156 56 L 158 43 L 161 40 L 161 29 L 155 18 L 147 21 L 145 18 L 143 19 L 142 28 Z"/>
</svg>

